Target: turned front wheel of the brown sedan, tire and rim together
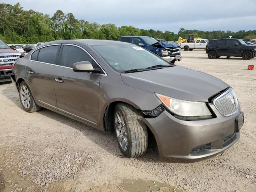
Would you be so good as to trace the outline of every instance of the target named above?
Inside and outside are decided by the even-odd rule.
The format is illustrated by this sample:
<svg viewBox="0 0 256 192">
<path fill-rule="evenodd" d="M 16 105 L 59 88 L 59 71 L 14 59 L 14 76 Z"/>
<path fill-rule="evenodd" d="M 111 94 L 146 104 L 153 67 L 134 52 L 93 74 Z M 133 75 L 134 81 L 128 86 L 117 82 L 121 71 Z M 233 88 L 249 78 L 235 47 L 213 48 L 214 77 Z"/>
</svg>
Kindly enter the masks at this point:
<svg viewBox="0 0 256 192">
<path fill-rule="evenodd" d="M 119 103 L 115 107 L 114 130 L 118 146 L 128 158 L 142 156 L 148 148 L 147 127 L 140 118 L 142 114 L 128 104 Z"/>
</svg>

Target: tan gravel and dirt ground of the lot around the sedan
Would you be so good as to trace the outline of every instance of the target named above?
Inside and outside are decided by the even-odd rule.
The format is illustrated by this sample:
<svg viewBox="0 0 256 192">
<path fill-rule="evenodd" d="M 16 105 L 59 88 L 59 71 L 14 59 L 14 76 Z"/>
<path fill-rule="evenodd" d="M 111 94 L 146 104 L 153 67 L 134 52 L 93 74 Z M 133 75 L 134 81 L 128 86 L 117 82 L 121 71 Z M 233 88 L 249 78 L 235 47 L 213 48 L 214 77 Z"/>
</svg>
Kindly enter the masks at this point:
<svg viewBox="0 0 256 192">
<path fill-rule="evenodd" d="M 0 191 L 256 191 L 256 59 L 210 60 L 182 52 L 176 64 L 201 70 L 236 90 L 245 123 L 240 140 L 209 160 L 161 162 L 152 144 L 138 159 L 123 158 L 113 133 L 43 109 L 22 110 L 10 83 L 0 83 Z"/>
</svg>

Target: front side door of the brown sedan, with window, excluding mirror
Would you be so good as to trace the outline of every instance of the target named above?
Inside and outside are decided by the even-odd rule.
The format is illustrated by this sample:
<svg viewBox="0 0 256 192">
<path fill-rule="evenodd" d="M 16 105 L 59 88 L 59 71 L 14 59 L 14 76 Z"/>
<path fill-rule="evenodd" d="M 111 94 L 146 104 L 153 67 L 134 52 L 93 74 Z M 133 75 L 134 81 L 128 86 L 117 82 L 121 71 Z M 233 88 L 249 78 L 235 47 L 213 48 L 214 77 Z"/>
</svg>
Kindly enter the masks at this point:
<svg viewBox="0 0 256 192">
<path fill-rule="evenodd" d="M 72 64 L 95 60 L 83 48 L 63 44 L 59 63 L 54 71 L 57 108 L 63 113 L 99 126 L 99 82 L 102 74 L 74 72 Z"/>
</svg>

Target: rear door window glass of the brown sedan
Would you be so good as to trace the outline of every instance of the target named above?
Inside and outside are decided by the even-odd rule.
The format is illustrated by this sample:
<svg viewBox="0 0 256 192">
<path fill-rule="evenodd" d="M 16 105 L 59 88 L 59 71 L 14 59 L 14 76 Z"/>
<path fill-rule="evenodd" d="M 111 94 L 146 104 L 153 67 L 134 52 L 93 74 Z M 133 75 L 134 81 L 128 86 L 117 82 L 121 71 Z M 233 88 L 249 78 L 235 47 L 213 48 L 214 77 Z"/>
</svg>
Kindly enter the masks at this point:
<svg viewBox="0 0 256 192">
<path fill-rule="evenodd" d="M 41 48 L 38 54 L 38 61 L 55 64 L 58 48 L 58 45 Z"/>
</svg>

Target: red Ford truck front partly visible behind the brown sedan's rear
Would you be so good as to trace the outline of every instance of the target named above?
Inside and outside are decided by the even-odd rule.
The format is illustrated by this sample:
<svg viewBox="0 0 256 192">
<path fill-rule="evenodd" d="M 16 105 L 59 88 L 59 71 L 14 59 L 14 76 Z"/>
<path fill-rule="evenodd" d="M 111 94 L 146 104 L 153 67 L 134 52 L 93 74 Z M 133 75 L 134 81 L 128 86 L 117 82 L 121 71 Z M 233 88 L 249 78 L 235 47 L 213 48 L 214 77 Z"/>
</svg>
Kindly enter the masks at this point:
<svg viewBox="0 0 256 192">
<path fill-rule="evenodd" d="M 12 50 L 0 40 L 0 82 L 10 81 L 13 64 L 18 58 L 24 57 L 24 53 Z"/>
</svg>

